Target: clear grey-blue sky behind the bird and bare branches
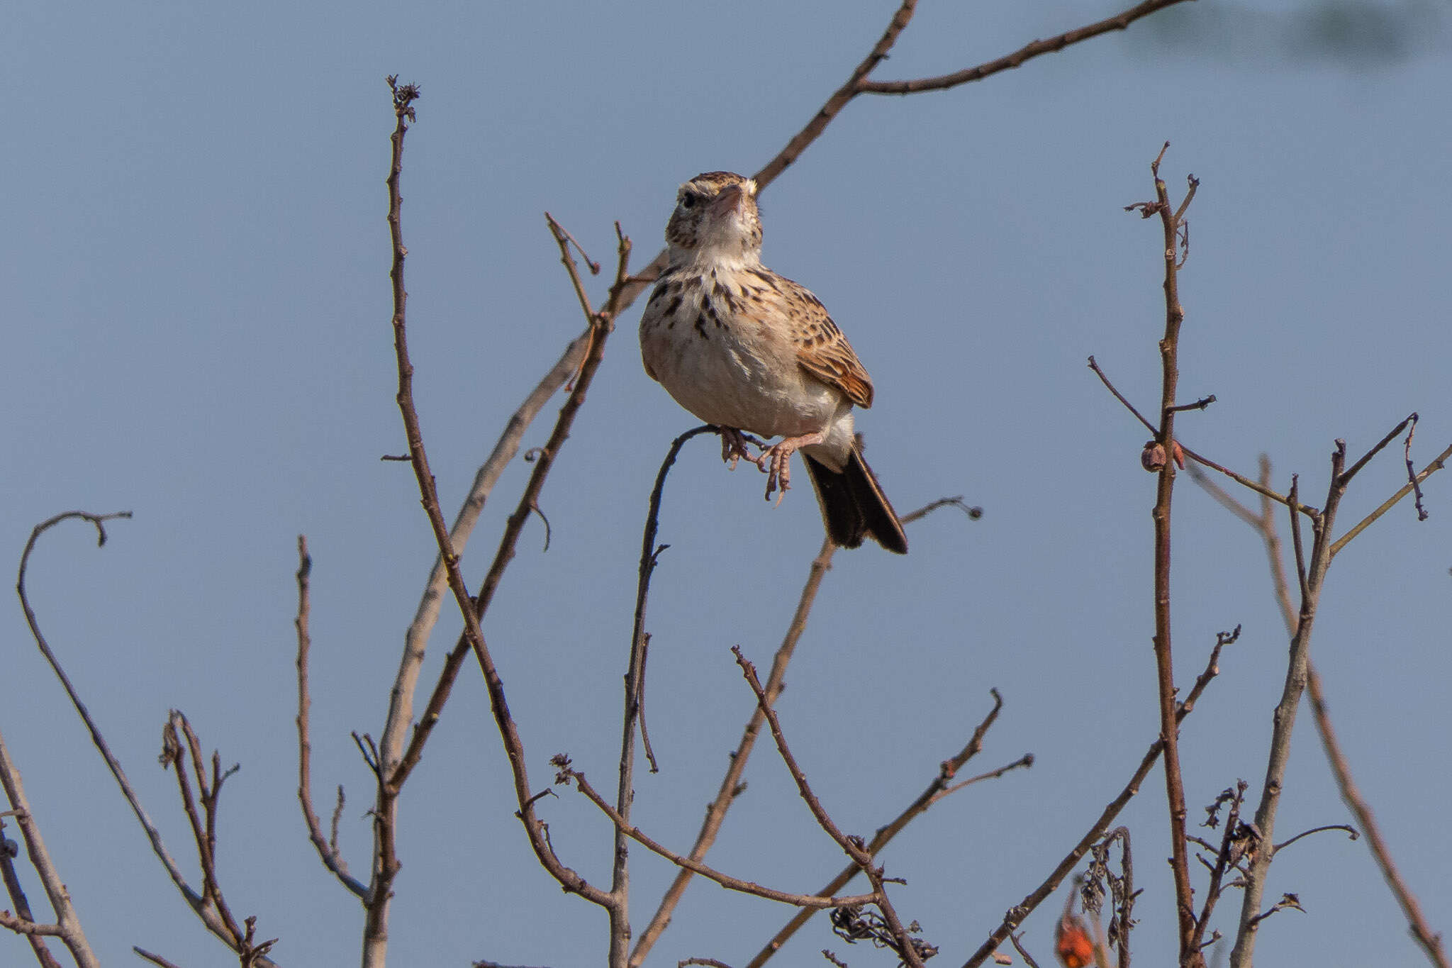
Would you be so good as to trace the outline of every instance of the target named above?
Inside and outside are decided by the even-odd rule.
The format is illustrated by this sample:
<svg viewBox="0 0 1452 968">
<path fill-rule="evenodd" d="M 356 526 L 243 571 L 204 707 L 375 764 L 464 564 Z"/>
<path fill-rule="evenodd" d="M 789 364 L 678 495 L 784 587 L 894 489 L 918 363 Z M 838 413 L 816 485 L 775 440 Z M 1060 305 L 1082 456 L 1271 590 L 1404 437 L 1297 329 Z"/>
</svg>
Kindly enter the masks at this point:
<svg viewBox="0 0 1452 968">
<path fill-rule="evenodd" d="M 187 855 L 158 730 L 184 710 L 241 762 L 222 807 L 222 879 L 289 965 L 350 964 L 362 913 L 324 872 L 295 803 L 295 541 L 314 572 L 314 776 L 344 784 L 343 840 L 366 869 L 369 776 L 402 633 L 434 557 L 393 405 L 386 74 L 423 87 L 408 138 L 417 395 L 446 515 L 581 319 L 543 221 L 595 258 L 613 222 L 640 260 L 675 186 L 754 171 L 836 89 L 893 4 L 431 3 L 29 4 L 4 15 L 12 112 L 0 283 L 3 544 L 57 511 L 131 509 L 106 549 L 51 533 L 29 583 L 44 627 L 174 853 Z M 1114 4 L 923 3 L 880 78 L 938 74 L 1117 12 Z M 1374 16 L 1375 15 L 1375 16 Z M 765 261 L 813 289 L 877 389 L 860 417 L 899 509 L 942 495 L 984 508 L 913 525 L 906 559 L 842 553 L 781 711 L 842 826 L 896 814 L 1005 697 L 979 768 L 1029 772 L 958 794 L 892 848 L 899 910 L 961 961 L 1038 884 L 1156 733 L 1144 432 L 1085 367 L 1157 399 L 1160 229 L 1122 206 L 1201 179 L 1182 276 L 1183 399 L 1198 451 L 1324 499 L 1331 441 L 1361 453 L 1417 411 L 1414 454 L 1452 441 L 1448 244 L 1452 57 L 1440 7 L 1186 4 L 947 93 L 858 99 L 762 196 Z M 604 293 L 600 280 L 594 296 Z M 639 305 L 546 488 L 491 611 L 491 639 L 536 784 L 568 752 L 600 785 L 617 752 L 635 556 L 655 470 L 694 425 L 642 372 Z M 550 403 L 526 446 L 544 441 Z M 749 469 L 746 469 L 749 470 Z M 465 559 L 488 563 L 527 475 L 504 475 Z M 1342 521 L 1404 477 L 1400 446 L 1353 485 Z M 1448 592 L 1452 477 L 1429 521 L 1398 506 L 1343 553 L 1313 652 L 1358 782 L 1435 924 L 1452 910 Z M 1183 729 L 1192 820 L 1237 778 L 1259 785 L 1285 636 L 1259 540 L 1180 480 L 1175 636 L 1188 686 L 1241 640 Z M 662 514 L 650 601 L 650 724 L 664 772 L 637 820 L 685 848 L 751 695 L 730 646 L 765 665 L 820 541 L 810 495 L 761 501 L 688 446 Z M 10 605 L 0 729 L 86 930 L 224 964 L 150 858 Z M 428 669 L 457 634 L 447 615 Z M 398 965 L 600 964 L 604 919 L 529 855 L 478 675 L 466 670 L 404 797 Z M 430 673 L 425 670 L 425 682 Z M 810 890 L 841 865 L 768 750 L 713 852 L 722 868 Z M 608 824 L 563 792 L 553 842 L 608 878 Z M 1345 820 L 1302 721 L 1278 834 Z M 1125 811 L 1146 895 L 1137 956 L 1173 945 L 1163 782 Z M 13 834 L 10 834 L 13 836 Z M 1284 839 L 1278 836 L 1278 839 Z M 643 926 L 671 871 L 636 850 Z M 1262 932 L 1263 964 L 1417 964 L 1363 843 L 1286 850 L 1268 897 L 1307 914 Z M 32 890 L 32 898 L 38 891 Z M 1233 898 L 1223 908 L 1239 908 Z M 1059 901 L 1027 926 L 1041 959 Z M 743 964 L 787 914 L 696 885 L 655 952 Z M 0 939 L 12 959 L 22 942 Z M 825 927 L 783 958 L 832 948 Z M 878 953 L 877 961 L 881 959 Z M 883 962 L 886 964 L 886 962 Z"/>
</svg>

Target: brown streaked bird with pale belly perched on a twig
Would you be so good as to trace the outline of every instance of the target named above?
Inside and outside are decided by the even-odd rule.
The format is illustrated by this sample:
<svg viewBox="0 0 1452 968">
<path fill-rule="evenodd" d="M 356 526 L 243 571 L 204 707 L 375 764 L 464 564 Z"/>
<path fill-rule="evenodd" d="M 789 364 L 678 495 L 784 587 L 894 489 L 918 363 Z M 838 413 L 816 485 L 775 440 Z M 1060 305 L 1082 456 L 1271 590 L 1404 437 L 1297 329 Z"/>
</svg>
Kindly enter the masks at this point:
<svg viewBox="0 0 1452 968">
<path fill-rule="evenodd" d="M 902 521 L 854 430 L 852 408 L 873 405 L 873 380 L 822 300 L 762 266 L 755 180 L 707 171 L 684 183 L 665 239 L 668 263 L 640 316 L 646 374 L 717 428 L 732 469 L 748 460 L 767 473 L 768 501 L 786 496 L 800 451 L 833 544 L 871 537 L 906 554 Z M 781 440 L 765 446 L 754 434 Z"/>
</svg>

